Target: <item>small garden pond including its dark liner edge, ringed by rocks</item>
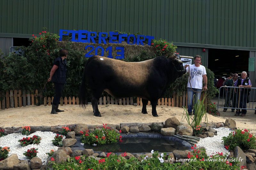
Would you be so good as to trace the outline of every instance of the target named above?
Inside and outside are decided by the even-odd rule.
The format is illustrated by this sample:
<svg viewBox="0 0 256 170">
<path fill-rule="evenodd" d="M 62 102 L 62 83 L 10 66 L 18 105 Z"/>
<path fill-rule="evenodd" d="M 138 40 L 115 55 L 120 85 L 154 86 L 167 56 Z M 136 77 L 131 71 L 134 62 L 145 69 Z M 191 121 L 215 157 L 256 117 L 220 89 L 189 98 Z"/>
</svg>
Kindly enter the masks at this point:
<svg viewBox="0 0 256 170">
<path fill-rule="evenodd" d="M 158 152 L 172 152 L 174 150 L 190 150 L 191 145 L 173 136 L 163 136 L 159 133 L 139 132 L 134 134 L 120 134 L 122 143 L 104 144 L 91 146 L 80 145 L 80 136 L 76 136 L 77 143 L 71 146 L 72 150 L 93 149 L 94 152 L 113 152 L 113 153 L 147 153 L 152 149 Z"/>
</svg>

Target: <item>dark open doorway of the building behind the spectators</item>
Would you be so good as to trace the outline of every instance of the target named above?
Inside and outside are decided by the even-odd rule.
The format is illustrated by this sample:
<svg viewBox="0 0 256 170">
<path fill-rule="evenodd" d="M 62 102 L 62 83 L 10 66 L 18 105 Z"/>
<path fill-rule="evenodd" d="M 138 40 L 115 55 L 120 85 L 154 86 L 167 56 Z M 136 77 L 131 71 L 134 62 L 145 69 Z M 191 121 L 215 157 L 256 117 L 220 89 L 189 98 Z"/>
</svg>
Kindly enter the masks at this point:
<svg viewBox="0 0 256 170">
<path fill-rule="evenodd" d="M 209 48 L 208 68 L 216 78 L 229 77 L 229 73 L 248 72 L 249 51 Z M 240 74 L 239 74 L 240 73 Z"/>
</svg>

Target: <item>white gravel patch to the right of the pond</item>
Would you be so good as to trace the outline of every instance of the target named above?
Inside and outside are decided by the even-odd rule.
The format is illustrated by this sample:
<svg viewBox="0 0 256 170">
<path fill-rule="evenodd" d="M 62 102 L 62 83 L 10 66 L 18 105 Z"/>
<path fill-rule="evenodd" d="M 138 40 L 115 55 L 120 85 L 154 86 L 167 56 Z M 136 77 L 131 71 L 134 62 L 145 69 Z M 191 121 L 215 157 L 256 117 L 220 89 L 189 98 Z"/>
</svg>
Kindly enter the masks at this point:
<svg viewBox="0 0 256 170">
<path fill-rule="evenodd" d="M 217 130 L 217 135 L 214 137 L 206 137 L 203 139 L 200 139 L 198 144 L 196 144 L 197 147 L 204 147 L 206 149 L 206 154 L 208 156 L 215 155 L 216 152 L 222 152 L 223 155 L 226 153 L 229 155 L 230 152 L 224 147 L 222 137 L 227 137 L 232 130 L 229 130 L 229 128 L 213 128 Z"/>
</svg>

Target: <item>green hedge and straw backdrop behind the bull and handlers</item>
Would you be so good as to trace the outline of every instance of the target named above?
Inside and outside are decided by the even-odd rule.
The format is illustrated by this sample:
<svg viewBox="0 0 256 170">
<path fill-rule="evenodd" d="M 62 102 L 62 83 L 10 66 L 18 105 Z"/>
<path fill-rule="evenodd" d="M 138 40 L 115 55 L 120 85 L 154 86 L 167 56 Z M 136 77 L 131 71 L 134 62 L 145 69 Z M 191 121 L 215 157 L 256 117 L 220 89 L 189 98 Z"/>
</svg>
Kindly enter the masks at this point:
<svg viewBox="0 0 256 170">
<path fill-rule="evenodd" d="M 53 83 L 46 83 L 50 76 L 52 63 L 58 57 L 58 51 L 61 48 L 66 48 L 69 51 L 67 58 L 67 84 L 65 85 L 63 96 L 77 96 L 80 84 L 82 82 L 84 64 L 88 58 L 84 55 L 87 51 L 84 50 L 86 45 L 99 46 L 99 44 L 77 43 L 70 41 L 58 41 L 57 34 L 49 32 L 42 32 L 40 37 L 34 36 L 30 38 L 31 45 L 29 47 L 22 47 L 25 51 L 24 56 L 18 56 L 14 53 L 0 59 L 0 92 L 6 90 L 42 90 L 44 96 L 54 96 Z M 167 45 L 167 48 L 164 46 Z M 173 55 L 176 46 L 172 43 L 165 42 L 165 40 L 154 40 L 152 46 L 139 46 L 128 44 L 100 44 L 100 46 L 123 46 L 125 48 L 124 61 L 139 62 L 156 57 L 157 55 L 164 55 L 169 57 Z M 103 47 L 103 48 L 104 48 Z M 162 51 L 161 49 L 165 49 Z M 114 49 L 114 48 L 113 48 Z M 2 53 L 0 51 L 0 53 Z M 1 54 L 0 54 L 1 55 Z M 108 54 L 105 54 L 106 56 Z M 113 50 L 113 55 L 115 52 Z M 206 69 L 208 77 L 208 92 L 209 97 L 212 98 L 217 92 L 213 86 L 214 74 L 211 70 Z M 183 75 L 182 78 L 166 90 L 163 97 L 172 96 L 173 92 L 181 95 L 187 87 L 188 74 Z M 3 97 L 3 96 L 2 96 Z"/>
</svg>

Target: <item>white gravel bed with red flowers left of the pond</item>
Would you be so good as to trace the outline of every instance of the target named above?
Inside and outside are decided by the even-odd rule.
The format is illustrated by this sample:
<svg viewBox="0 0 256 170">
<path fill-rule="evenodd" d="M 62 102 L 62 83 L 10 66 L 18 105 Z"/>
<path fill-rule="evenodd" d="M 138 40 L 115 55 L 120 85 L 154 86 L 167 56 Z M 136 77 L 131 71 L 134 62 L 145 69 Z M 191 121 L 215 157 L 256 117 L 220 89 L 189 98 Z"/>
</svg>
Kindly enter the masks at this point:
<svg viewBox="0 0 256 170">
<path fill-rule="evenodd" d="M 29 144 L 27 146 L 21 146 L 20 142 L 18 140 L 22 139 L 23 137 L 32 137 L 33 135 L 40 136 L 42 138 L 41 142 L 39 144 Z M 54 151 L 58 150 L 58 146 L 54 146 L 52 144 L 52 140 L 54 139 L 56 133 L 53 132 L 41 132 L 36 131 L 35 133 L 32 133 L 28 136 L 22 135 L 21 133 L 12 133 L 9 135 L 6 135 L 4 137 L 0 137 L 0 146 L 8 146 L 10 147 L 9 156 L 12 153 L 16 153 L 18 155 L 18 158 L 20 160 L 29 160 L 25 155 L 23 155 L 24 152 L 26 152 L 30 148 L 38 148 L 37 157 L 42 159 L 43 164 L 46 164 L 46 160 L 48 155 L 47 152 L 50 152 L 51 149 Z M 63 139 L 65 136 L 63 137 Z"/>
</svg>

